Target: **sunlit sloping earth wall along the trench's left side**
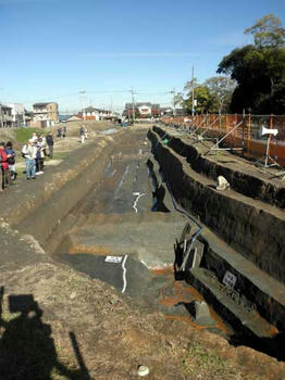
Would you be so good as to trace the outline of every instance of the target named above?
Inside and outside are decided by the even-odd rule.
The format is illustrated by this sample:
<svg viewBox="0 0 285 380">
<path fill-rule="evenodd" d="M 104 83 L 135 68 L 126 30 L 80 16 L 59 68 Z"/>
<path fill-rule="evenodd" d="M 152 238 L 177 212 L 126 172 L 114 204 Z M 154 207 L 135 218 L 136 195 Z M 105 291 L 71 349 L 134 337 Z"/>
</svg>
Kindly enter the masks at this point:
<svg viewBox="0 0 285 380">
<path fill-rule="evenodd" d="M 15 197 L 8 197 L 1 203 L 1 219 L 41 243 L 46 241 L 61 219 L 96 186 L 123 135 L 123 131 L 116 134 L 115 139 L 100 137 L 51 167 L 37 182 L 26 181 L 11 189 L 11 192 L 15 190 Z M 35 186 L 38 182 L 41 186 Z"/>
</svg>

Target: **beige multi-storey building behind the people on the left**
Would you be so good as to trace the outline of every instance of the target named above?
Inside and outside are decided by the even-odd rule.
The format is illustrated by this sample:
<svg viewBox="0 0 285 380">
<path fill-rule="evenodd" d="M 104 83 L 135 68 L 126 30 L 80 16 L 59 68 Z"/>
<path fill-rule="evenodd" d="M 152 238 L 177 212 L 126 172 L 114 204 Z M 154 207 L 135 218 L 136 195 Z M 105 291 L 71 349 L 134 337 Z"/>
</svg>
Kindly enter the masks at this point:
<svg viewBox="0 0 285 380">
<path fill-rule="evenodd" d="M 52 127 L 59 122 L 59 104 L 54 102 L 33 105 L 33 127 Z"/>
</svg>

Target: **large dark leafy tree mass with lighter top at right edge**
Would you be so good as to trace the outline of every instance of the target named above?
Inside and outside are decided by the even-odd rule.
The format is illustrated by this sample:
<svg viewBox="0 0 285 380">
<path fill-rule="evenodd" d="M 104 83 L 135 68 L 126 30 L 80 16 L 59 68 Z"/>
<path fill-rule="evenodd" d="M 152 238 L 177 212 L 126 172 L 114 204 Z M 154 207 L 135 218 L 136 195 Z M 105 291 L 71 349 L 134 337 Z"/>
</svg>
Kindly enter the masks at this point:
<svg viewBox="0 0 285 380">
<path fill-rule="evenodd" d="M 219 74 L 237 81 L 231 111 L 285 113 L 285 29 L 268 15 L 245 31 L 253 35 L 255 45 L 234 49 L 218 67 Z"/>
</svg>

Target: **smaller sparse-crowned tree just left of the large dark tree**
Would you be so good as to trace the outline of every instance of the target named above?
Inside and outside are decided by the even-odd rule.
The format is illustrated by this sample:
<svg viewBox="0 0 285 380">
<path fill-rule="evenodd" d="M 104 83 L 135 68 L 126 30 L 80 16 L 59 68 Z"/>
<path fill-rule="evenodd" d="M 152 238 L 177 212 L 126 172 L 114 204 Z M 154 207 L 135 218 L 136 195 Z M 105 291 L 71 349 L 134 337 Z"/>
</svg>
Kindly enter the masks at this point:
<svg viewBox="0 0 285 380">
<path fill-rule="evenodd" d="M 216 103 L 219 114 L 228 110 L 236 85 L 236 80 L 227 76 L 214 76 L 205 81 L 203 86 L 209 88 L 212 105 Z"/>
</svg>

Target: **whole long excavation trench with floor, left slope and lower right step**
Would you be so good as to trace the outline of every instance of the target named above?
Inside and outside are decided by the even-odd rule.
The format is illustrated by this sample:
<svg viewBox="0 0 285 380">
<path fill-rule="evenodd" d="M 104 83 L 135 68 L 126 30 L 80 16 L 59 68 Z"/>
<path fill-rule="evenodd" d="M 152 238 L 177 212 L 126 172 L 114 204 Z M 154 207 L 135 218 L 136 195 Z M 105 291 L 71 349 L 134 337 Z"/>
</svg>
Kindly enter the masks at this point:
<svg viewBox="0 0 285 380">
<path fill-rule="evenodd" d="M 195 189 L 199 195 L 201 185 L 188 180 L 185 161 L 160 139 L 138 129 L 98 140 L 46 177 L 44 192 L 23 194 L 21 206 L 4 211 L 3 219 L 54 259 L 110 283 L 141 307 L 278 356 L 283 304 L 228 261 L 234 252 L 207 226 L 198 237 L 188 217 L 197 212 L 185 194 L 194 197 Z M 238 300 L 221 292 L 226 270 L 240 283 Z"/>
</svg>

